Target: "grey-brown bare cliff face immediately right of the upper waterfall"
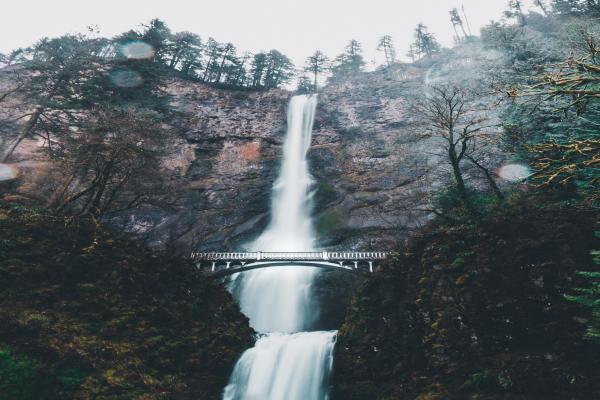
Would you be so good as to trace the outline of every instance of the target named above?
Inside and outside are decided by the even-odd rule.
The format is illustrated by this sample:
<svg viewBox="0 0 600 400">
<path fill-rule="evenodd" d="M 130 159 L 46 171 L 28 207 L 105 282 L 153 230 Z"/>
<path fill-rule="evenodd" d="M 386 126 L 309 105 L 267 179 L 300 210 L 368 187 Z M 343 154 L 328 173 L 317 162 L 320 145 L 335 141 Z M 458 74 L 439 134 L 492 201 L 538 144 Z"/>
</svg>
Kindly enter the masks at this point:
<svg viewBox="0 0 600 400">
<path fill-rule="evenodd" d="M 332 82 L 320 96 L 310 160 L 322 243 L 387 249 L 422 221 L 408 210 L 426 169 L 407 97 L 422 71 L 398 66 Z"/>
</svg>

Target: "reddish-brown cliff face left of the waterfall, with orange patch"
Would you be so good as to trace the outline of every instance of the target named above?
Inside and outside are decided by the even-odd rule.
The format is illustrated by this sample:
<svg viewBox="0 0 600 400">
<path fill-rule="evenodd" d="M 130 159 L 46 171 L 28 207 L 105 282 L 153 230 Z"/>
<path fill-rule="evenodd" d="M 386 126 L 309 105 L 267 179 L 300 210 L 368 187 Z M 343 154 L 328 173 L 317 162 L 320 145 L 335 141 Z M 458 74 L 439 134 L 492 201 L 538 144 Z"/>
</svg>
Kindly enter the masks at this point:
<svg viewBox="0 0 600 400">
<path fill-rule="evenodd" d="M 177 212 L 162 215 L 162 230 L 199 250 L 236 248 L 268 222 L 290 94 L 219 91 L 187 82 L 169 91 L 186 115 L 176 122 L 186 187 Z"/>
</svg>

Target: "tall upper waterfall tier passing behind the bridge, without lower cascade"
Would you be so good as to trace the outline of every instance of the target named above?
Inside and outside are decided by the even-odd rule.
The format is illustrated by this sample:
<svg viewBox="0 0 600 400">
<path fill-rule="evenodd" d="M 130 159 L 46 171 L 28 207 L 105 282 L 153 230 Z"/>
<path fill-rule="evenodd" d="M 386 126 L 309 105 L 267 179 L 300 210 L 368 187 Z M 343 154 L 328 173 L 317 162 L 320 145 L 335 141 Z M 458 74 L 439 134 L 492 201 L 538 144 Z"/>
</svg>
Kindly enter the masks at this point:
<svg viewBox="0 0 600 400">
<path fill-rule="evenodd" d="M 279 176 L 273 186 L 272 216 L 252 251 L 311 251 L 311 185 L 306 154 L 310 148 L 317 96 L 294 96 L 288 107 L 288 129 Z M 236 277 L 232 290 L 250 324 L 259 332 L 309 330 L 319 307 L 310 296 L 316 272 L 285 267 L 252 271 Z"/>
</svg>

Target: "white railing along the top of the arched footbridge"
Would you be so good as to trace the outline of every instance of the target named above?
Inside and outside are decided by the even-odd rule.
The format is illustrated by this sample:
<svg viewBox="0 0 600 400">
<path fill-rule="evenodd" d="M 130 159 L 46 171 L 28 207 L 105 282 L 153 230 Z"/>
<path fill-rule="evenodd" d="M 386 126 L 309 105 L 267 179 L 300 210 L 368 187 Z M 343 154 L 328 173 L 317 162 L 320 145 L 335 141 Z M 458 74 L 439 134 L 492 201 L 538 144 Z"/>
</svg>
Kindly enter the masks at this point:
<svg viewBox="0 0 600 400">
<path fill-rule="evenodd" d="M 383 251 L 311 251 L 311 252 L 247 252 L 247 253 L 194 253 L 196 261 L 343 261 L 343 260 L 384 260 L 388 253 Z"/>
</svg>

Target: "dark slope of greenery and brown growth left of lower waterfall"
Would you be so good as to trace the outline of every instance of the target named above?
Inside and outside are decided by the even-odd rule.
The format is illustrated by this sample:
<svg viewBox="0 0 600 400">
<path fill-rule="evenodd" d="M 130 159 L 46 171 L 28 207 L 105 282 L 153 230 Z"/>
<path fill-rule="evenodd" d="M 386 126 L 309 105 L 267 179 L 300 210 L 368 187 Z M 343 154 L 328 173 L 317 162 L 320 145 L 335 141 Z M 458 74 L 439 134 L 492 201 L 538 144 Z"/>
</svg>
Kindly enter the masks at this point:
<svg viewBox="0 0 600 400">
<path fill-rule="evenodd" d="M 89 218 L 0 204 L 0 277 L 2 399 L 217 399 L 252 343 L 189 260 Z"/>
</svg>

